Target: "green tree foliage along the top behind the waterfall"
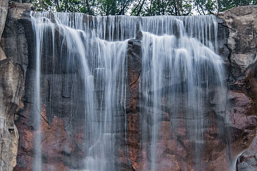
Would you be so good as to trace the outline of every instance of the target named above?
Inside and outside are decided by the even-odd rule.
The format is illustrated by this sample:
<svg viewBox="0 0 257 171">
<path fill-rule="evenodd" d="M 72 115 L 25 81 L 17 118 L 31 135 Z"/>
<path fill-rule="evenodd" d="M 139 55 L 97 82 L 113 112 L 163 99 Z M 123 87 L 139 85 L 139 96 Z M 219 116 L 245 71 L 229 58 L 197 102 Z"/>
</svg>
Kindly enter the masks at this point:
<svg viewBox="0 0 257 171">
<path fill-rule="evenodd" d="M 33 3 L 39 11 L 82 12 L 108 15 L 210 15 L 257 0 L 9 0 Z"/>
</svg>

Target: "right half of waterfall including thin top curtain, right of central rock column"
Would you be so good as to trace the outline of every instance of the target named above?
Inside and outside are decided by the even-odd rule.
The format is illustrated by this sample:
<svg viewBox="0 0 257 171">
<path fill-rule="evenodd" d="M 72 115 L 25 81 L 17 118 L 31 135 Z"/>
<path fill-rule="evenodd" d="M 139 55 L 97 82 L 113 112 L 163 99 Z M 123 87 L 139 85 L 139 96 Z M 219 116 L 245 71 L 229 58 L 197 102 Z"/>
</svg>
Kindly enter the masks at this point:
<svg viewBox="0 0 257 171">
<path fill-rule="evenodd" d="M 140 115 L 148 123 L 142 123 L 142 140 L 148 138 L 145 135 L 149 131 L 150 169 L 157 170 L 160 162 L 157 157 L 159 127 L 166 112 L 174 131 L 173 139 L 179 139 L 179 118 L 185 118 L 187 131 L 189 129 L 187 137 L 195 146 L 195 168 L 201 171 L 204 170 L 200 161 L 205 145 L 204 132 L 209 126 L 206 123 L 209 89 L 220 87 L 215 95 L 225 103 L 223 60 L 214 52 L 217 49 L 216 23 L 213 16 L 157 18 L 159 20 L 154 22 L 161 22 L 157 24 L 161 27 L 142 33 L 140 75 Z M 146 25 L 151 25 L 149 22 L 152 20 L 145 21 Z"/>
</svg>

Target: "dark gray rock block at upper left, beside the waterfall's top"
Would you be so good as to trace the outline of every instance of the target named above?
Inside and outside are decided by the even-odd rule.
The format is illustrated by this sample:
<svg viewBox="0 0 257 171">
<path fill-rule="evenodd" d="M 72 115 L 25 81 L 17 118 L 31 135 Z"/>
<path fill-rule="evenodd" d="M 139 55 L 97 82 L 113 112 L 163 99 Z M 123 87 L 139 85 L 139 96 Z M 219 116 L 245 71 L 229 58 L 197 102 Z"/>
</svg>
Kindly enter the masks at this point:
<svg viewBox="0 0 257 171">
<path fill-rule="evenodd" d="M 28 56 L 30 54 L 30 44 L 33 44 L 31 22 L 29 18 L 30 10 L 34 6 L 30 3 L 14 2 L 8 8 L 5 22 L 5 29 L 1 38 L 0 45 L 7 56 L 27 70 Z M 24 11 L 27 11 L 24 13 Z M 29 44 L 29 45 L 28 45 Z"/>
</svg>

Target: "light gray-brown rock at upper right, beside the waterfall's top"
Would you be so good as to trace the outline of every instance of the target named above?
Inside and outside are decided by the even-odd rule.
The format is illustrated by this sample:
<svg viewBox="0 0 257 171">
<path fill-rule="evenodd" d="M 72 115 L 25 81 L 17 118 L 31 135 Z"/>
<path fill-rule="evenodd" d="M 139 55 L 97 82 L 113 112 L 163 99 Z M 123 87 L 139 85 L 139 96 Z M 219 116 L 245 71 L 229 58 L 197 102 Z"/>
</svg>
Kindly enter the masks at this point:
<svg viewBox="0 0 257 171">
<path fill-rule="evenodd" d="M 234 7 L 218 15 L 229 28 L 232 76 L 244 76 L 257 58 L 257 5 Z"/>
</svg>

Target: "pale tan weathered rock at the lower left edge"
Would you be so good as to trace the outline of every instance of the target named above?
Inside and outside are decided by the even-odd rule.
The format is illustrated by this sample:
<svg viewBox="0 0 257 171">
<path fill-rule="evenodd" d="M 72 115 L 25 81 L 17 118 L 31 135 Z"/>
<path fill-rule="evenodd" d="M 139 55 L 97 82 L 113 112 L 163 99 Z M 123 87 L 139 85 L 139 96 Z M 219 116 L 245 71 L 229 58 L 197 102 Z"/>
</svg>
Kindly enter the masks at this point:
<svg viewBox="0 0 257 171">
<path fill-rule="evenodd" d="M 0 61 L 0 73 L 0 170 L 12 171 L 19 141 L 14 114 L 20 105 L 23 68 L 11 59 L 4 59 Z"/>
</svg>

